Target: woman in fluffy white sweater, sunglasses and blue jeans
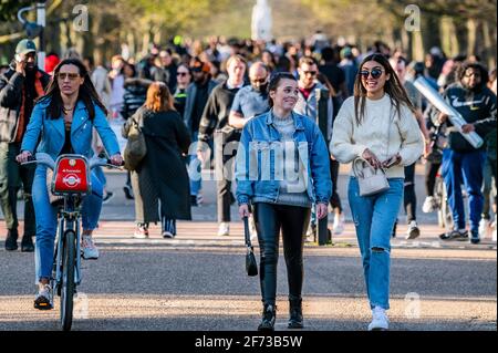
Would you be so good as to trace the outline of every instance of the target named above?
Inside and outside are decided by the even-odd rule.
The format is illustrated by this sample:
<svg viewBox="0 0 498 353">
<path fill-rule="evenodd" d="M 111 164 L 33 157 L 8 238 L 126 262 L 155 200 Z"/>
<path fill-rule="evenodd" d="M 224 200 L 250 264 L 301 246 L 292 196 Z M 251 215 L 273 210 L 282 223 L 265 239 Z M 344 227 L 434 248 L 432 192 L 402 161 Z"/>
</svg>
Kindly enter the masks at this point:
<svg viewBox="0 0 498 353">
<path fill-rule="evenodd" d="M 388 329 L 390 242 L 403 200 L 404 166 L 424 150 L 414 111 L 386 58 L 372 54 L 361 63 L 354 96 L 343 103 L 334 122 L 332 155 L 344 164 L 362 157 L 383 168 L 390 184 L 385 191 L 360 196 L 352 175 L 347 190 L 373 315 L 369 330 Z"/>
</svg>

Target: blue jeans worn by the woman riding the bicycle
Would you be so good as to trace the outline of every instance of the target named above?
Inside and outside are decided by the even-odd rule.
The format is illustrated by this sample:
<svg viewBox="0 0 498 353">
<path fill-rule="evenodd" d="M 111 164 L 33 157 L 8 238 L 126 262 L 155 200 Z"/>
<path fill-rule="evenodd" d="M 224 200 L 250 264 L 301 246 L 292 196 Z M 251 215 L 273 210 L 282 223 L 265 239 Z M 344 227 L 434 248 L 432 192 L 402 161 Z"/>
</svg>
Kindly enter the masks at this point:
<svg viewBox="0 0 498 353">
<path fill-rule="evenodd" d="M 81 208 L 84 230 L 96 228 L 102 209 L 102 184 L 92 172 L 92 194 L 84 197 Z M 46 190 L 46 168 L 38 166 L 33 179 L 33 205 L 37 219 L 37 247 L 34 253 L 35 283 L 51 278 L 54 240 L 58 230 L 58 209 L 50 205 Z"/>
</svg>

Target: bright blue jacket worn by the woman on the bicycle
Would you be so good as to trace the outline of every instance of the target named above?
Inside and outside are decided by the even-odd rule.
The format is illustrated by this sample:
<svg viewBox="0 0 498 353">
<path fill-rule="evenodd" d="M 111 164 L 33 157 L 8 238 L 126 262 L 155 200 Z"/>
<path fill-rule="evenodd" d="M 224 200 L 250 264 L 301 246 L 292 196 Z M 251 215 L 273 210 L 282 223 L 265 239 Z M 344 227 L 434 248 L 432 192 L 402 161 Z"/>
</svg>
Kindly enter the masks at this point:
<svg viewBox="0 0 498 353">
<path fill-rule="evenodd" d="M 34 153 L 38 145 L 37 152 L 44 152 L 55 159 L 64 146 L 64 120 L 62 116 L 55 120 L 48 118 L 49 103 L 50 101 L 46 100 L 34 106 L 22 139 L 21 150 Z M 96 104 L 94 104 L 94 108 L 93 122 L 90 121 L 89 112 L 82 101 L 79 101 L 74 108 L 71 124 L 71 145 L 74 153 L 92 157 L 92 127 L 96 128 L 110 156 L 120 153 L 116 135 L 108 126 L 104 112 Z M 39 138 L 40 144 L 38 144 Z"/>
</svg>

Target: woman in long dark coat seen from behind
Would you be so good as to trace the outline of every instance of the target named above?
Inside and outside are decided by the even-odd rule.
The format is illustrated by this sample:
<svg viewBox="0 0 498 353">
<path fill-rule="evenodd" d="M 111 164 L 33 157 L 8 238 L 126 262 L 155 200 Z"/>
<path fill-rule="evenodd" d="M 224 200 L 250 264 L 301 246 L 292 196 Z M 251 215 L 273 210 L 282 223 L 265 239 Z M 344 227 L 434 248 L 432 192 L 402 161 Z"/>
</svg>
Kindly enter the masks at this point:
<svg viewBox="0 0 498 353">
<path fill-rule="evenodd" d="M 134 237 L 148 238 L 148 225 L 160 220 L 163 237 L 174 238 L 176 220 L 191 219 L 189 180 L 181 156 L 188 153 L 190 136 L 166 83 L 151 84 L 145 104 L 133 120 L 141 126 L 147 146 L 141 165 L 132 172 L 137 224 Z M 123 137 L 128 137 L 131 126 L 128 118 Z"/>
</svg>

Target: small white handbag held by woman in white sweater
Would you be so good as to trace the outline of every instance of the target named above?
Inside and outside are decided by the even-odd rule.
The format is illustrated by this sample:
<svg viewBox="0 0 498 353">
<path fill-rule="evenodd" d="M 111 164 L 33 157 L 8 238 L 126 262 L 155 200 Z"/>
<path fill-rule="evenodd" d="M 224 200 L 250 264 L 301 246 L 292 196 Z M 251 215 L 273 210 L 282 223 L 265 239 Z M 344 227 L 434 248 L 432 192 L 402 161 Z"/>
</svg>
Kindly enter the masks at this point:
<svg viewBox="0 0 498 353">
<path fill-rule="evenodd" d="M 382 168 L 375 169 L 361 157 L 353 162 L 353 174 L 360 186 L 360 196 L 375 195 L 390 188 L 384 170 Z"/>
</svg>

